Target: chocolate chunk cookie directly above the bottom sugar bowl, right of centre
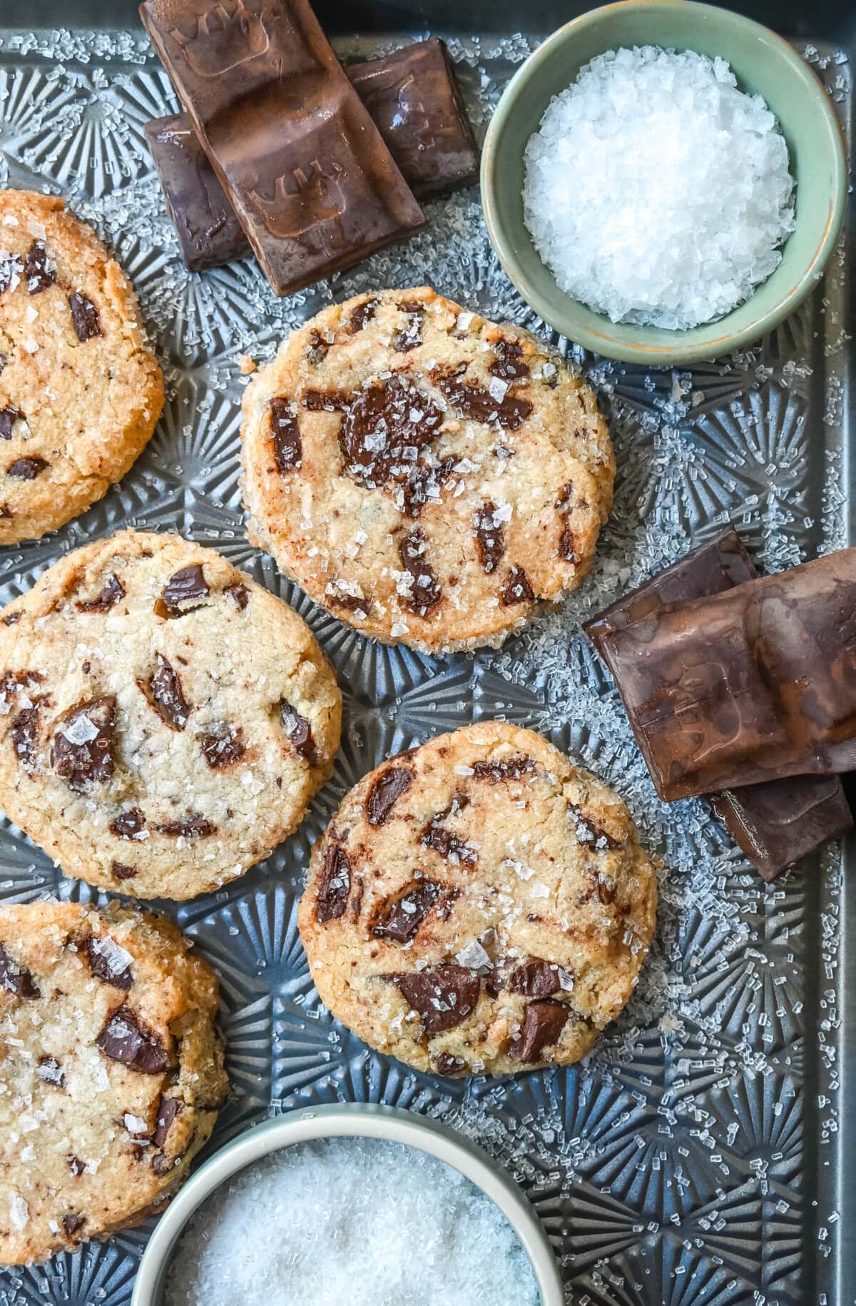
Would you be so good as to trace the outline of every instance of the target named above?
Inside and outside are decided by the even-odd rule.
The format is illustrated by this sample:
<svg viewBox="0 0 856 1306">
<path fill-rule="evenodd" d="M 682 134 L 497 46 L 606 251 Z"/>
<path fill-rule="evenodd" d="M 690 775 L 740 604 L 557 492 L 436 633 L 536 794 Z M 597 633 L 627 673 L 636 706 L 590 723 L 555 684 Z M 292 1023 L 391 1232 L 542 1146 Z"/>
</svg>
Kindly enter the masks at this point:
<svg viewBox="0 0 856 1306">
<path fill-rule="evenodd" d="M 621 799 L 542 735 L 465 726 L 365 776 L 312 852 L 300 935 L 333 1015 L 421 1071 L 568 1066 L 656 914 Z"/>
</svg>

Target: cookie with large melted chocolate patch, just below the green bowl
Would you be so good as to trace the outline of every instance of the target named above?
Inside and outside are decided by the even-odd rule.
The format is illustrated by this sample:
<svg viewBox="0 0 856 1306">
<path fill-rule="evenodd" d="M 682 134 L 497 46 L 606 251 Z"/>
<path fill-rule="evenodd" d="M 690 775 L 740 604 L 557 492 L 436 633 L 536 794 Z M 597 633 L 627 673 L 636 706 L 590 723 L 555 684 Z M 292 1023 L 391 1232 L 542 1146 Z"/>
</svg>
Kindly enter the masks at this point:
<svg viewBox="0 0 856 1306">
<path fill-rule="evenodd" d="M 251 539 L 342 620 L 425 652 L 501 644 L 590 569 L 615 460 L 528 332 L 433 290 L 318 313 L 244 396 Z"/>
</svg>

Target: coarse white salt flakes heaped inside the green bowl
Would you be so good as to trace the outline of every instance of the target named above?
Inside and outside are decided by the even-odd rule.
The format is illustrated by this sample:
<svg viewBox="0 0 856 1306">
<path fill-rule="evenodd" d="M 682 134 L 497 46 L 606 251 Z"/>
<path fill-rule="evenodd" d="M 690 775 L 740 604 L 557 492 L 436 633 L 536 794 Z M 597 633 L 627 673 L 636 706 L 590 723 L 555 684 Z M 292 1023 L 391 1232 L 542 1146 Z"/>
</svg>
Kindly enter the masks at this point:
<svg viewBox="0 0 856 1306">
<path fill-rule="evenodd" d="M 611 50 L 555 95 L 526 146 L 523 205 L 568 294 L 677 330 L 748 299 L 793 230 L 788 149 L 723 59 Z"/>
</svg>

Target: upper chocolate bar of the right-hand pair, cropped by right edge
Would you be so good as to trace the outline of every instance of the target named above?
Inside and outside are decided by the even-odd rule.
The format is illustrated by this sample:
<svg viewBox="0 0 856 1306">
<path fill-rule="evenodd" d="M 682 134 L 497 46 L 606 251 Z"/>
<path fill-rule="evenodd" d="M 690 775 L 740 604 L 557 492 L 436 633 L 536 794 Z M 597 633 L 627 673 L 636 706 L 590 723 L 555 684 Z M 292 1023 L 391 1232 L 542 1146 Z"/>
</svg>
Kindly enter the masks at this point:
<svg viewBox="0 0 856 1306">
<path fill-rule="evenodd" d="M 856 767 L 856 550 L 603 637 L 667 802 Z"/>
</svg>

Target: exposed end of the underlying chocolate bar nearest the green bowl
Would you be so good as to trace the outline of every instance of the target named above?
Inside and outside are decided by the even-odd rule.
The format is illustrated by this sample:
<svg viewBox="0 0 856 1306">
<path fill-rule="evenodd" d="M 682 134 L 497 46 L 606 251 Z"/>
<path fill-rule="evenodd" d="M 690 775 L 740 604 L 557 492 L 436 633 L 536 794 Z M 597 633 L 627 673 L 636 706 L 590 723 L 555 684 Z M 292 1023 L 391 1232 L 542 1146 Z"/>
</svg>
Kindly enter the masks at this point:
<svg viewBox="0 0 856 1306">
<path fill-rule="evenodd" d="M 479 180 L 479 148 L 442 40 L 419 40 L 346 72 L 414 195 Z"/>
</svg>

